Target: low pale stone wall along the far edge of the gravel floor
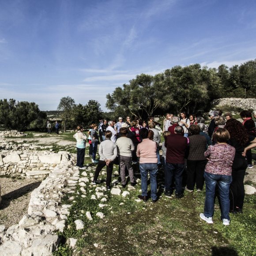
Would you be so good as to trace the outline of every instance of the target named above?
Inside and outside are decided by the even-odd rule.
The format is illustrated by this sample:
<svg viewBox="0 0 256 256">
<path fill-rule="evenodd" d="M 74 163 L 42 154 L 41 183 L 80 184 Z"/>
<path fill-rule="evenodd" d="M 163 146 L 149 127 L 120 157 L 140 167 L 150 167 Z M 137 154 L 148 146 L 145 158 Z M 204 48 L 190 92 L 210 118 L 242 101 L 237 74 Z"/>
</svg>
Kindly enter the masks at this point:
<svg viewBox="0 0 256 256">
<path fill-rule="evenodd" d="M 0 175 L 45 177 L 58 164 L 72 164 L 71 154 L 67 151 L 0 151 Z"/>
</svg>

